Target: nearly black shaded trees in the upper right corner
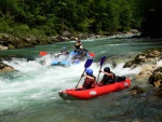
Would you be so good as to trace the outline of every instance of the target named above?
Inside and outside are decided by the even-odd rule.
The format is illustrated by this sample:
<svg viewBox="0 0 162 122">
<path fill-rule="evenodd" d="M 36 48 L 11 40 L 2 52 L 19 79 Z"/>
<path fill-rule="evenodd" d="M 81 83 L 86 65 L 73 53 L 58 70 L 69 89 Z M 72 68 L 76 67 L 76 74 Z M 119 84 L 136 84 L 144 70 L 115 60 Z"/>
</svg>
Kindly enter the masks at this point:
<svg viewBox="0 0 162 122">
<path fill-rule="evenodd" d="M 162 38 L 162 1 L 141 0 L 143 17 L 141 35 L 144 37 Z"/>
</svg>

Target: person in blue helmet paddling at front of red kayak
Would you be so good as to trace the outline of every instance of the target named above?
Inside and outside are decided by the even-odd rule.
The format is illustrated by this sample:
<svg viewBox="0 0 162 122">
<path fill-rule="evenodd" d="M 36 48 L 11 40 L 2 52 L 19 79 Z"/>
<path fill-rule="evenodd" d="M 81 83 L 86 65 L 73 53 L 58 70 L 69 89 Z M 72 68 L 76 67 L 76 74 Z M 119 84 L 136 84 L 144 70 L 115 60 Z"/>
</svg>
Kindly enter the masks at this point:
<svg viewBox="0 0 162 122">
<path fill-rule="evenodd" d="M 86 73 L 83 73 L 81 77 L 85 77 L 84 83 L 82 86 L 79 87 L 79 90 L 87 90 L 87 89 L 93 89 L 95 87 L 95 77 L 93 76 L 93 70 L 92 69 L 86 69 Z"/>
</svg>

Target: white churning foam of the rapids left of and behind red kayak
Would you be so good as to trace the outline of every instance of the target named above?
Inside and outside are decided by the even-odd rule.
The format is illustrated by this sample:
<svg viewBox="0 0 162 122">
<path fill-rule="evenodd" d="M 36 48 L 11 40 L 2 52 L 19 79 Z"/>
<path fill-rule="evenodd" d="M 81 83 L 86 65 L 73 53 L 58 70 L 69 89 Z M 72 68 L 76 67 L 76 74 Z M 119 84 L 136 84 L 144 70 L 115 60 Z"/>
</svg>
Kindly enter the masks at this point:
<svg viewBox="0 0 162 122">
<path fill-rule="evenodd" d="M 59 91 L 72 89 L 77 85 L 85 69 L 85 62 L 69 67 L 44 66 L 37 60 L 28 62 L 27 59 L 16 58 L 3 63 L 14 67 L 22 78 L 17 76 L 16 80 L 9 79 L 8 77 L 0 77 L 1 109 L 11 109 L 15 106 L 42 103 L 48 99 L 57 99 L 59 98 Z M 122 68 L 123 64 L 119 64 L 116 68 L 112 68 L 110 64 L 106 64 L 103 66 L 103 69 L 107 66 L 119 76 L 135 74 L 139 72 L 139 68 Z M 93 63 L 90 68 L 93 69 L 94 76 L 97 78 L 99 63 Z M 99 76 L 99 79 L 102 79 L 102 77 L 103 74 Z M 82 84 L 83 80 L 84 78 L 81 79 L 79 85 Z"/>
</svg>

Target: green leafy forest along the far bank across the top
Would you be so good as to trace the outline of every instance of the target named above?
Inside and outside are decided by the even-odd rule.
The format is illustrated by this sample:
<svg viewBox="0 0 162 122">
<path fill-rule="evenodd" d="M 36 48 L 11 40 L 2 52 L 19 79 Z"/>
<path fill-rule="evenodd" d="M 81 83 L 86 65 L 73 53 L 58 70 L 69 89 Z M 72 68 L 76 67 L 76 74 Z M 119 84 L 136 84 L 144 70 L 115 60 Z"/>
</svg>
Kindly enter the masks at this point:
<svg viewBox="0 0 162 122">
<path fill-rule="evenodd" d="M 109 35 L 135 28 L 148 36 L 149 23 L 160 23 L 160 0 L 1 0 L 0 32 L 16 37 L 54 36 L 64 30 Z"/>
</svg>

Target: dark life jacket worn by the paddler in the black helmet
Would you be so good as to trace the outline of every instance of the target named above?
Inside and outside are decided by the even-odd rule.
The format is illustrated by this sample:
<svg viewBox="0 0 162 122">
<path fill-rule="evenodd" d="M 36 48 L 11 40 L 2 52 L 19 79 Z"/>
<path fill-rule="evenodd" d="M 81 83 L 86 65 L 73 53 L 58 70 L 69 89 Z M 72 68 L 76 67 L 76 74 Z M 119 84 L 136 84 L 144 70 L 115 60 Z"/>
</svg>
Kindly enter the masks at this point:
<svg viewBox="0 0 162 122">
<path fill-rule="evenodd" d="M 113 73 L 113 72 L 111 72 Z M 100 81 L 103 85 L 105 84 L 112 84 L 116 82 L 116 74 L 113 73 L 113 78 L 107 74 L 104 74 L 103 80 Z"/>
</svg>

